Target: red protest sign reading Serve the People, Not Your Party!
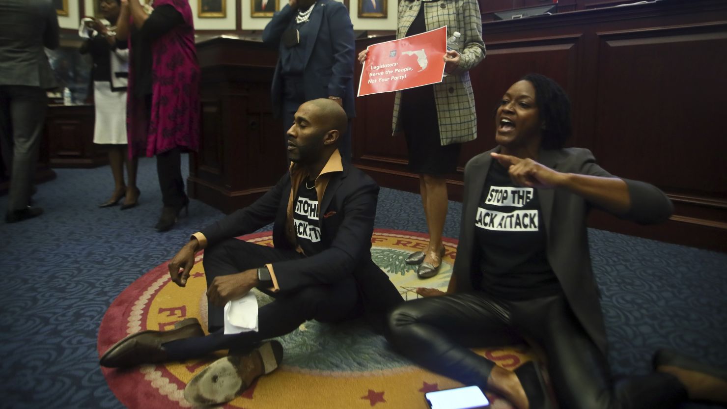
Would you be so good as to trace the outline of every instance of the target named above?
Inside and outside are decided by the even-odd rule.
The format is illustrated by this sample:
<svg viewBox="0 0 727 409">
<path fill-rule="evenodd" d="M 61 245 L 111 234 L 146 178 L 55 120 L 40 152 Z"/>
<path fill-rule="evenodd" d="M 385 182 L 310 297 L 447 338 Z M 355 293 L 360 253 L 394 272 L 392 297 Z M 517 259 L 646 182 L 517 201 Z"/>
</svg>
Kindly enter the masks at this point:
<svg viewBox="0 0 727 409">
<path fill-rule="evenodd" d="M 369 46 L 358 96 L 399 91 L 442 81 L 446 25 L 426 33 Z"/>
</svg>

